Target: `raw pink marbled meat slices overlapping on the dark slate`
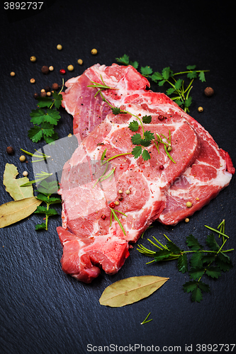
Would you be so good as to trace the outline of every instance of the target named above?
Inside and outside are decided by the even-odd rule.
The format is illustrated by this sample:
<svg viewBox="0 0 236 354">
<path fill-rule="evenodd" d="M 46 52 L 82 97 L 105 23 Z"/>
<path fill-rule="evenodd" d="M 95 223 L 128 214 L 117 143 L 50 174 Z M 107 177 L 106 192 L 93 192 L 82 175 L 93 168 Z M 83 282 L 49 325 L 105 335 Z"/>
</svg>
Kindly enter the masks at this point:
<svg viewBox="0 0 236 354">
<path fill-rule="evenodd" d="M 99 94 L 94 98 L 97 89 L 87 85 L 91 81 L 102 84 L 101 78 L 113 88 L 103 90 L 108 103 L 132 115 L 152 115 L 145 130 L 165 136 L 171 133 L 176 164 L 163 144 L 159 152 L 154 144 L 146 148 L 151 156 L 147 161 L 130 154 L 134 133 L 128 125 L 137 118 L 113 115 Z M 149 81 L 133 67 L 96 64 L 66 86 L 63 105 L 74 115 L 74 134 L 82 143 L 62 172 L 62 227 L 57 232 L 64 272 L 91 282 L 101 268 L 108 274 L 117 273 L 129 256 L 130 242 L 137 241 L 154 220 L 176 224 L 201 209 L 230 183 L 234 168 L 230 156 L 209 133 L 163 93 L 148 91 Z M 138 132 L 142 133 L 141 128 Z M 96 183 L 105 149 L 104 161 L 125 155 L 111 159 L 104 176 L 114 172 Z M 123 229 L 111 214 L 109 205 L 114 201 L 119 202 L 113 209 Z M 186 207 L 187 201 L 192 202 L 191 208 Z"/>
</svg>

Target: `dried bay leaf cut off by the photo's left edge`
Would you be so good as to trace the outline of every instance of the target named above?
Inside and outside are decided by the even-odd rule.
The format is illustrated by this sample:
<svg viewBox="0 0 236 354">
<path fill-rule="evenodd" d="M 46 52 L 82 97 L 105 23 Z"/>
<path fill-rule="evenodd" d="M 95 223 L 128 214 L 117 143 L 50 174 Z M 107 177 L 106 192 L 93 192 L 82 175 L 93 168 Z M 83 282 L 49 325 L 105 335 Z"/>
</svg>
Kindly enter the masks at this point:
<svg viewBox="0 0 236 354">
<path fill-rule="evenodd" d="M 42 200 L 35 197 L 13 200 L 0 205 L 0 228 L 9 226 L 32 214 Z"/>
</svg>

